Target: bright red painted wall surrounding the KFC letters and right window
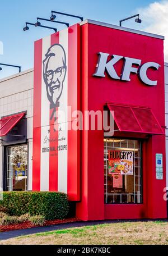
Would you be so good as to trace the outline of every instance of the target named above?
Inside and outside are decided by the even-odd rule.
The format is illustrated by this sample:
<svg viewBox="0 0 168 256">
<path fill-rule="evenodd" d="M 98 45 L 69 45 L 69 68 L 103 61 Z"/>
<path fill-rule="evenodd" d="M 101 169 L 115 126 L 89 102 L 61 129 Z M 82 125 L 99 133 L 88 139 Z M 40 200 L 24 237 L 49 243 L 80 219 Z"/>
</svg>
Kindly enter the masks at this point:
<svg viewBox="0 0 168 256">
<path fill-rule="evenodd" d="M 82 25 L 81 35 L 82 111 L 102 111 L 106 102 L 146 106 L 152 109 L 160 125 L 165 126 L 163 40 L 94 24 Z M 148 76 L 158 80 L 157 85 L 143 84 L 136 74 L 130 75 L 129 82 L 113 80 L 107 74 L 106 77 L 92 76 L 98 52 L 137 58 L 142 64 L 159 63 L 158 71 L 148 70 Z M 122 64 L 120 61 L 116 65 L 119 75 Z M 104 204 L 103 138 L 103 131 L 82 131 L 81 202 L 77 203 L 77 217 L 82 220 L 166 218 L 166 202 L 163 200 L 166 187 L 165 136 L 150 136 L 143 143 L 143 204 L 133 205 Z M 156 153 L 164 156 L 164 180 L 156 180 Z"/>
</svg>

